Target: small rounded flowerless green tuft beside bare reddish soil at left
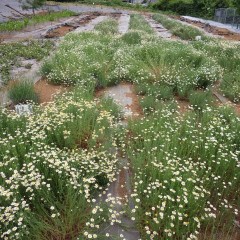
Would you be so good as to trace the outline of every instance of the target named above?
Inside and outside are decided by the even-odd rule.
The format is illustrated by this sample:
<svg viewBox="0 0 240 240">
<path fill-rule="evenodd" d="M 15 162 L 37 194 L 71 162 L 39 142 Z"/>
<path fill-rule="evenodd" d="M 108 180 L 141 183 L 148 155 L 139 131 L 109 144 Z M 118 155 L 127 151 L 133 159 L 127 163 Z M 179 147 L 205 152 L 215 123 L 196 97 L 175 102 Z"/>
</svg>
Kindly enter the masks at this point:
<svg viewBox="0 0 240 240">
<path fill-rule="evenodd" d="M 34 91 L 34 84 L 27 80 L 14 82 L 9 89 L 8 95 L 14 104 L 38 102 L 38 96 Z"/>
</svg>

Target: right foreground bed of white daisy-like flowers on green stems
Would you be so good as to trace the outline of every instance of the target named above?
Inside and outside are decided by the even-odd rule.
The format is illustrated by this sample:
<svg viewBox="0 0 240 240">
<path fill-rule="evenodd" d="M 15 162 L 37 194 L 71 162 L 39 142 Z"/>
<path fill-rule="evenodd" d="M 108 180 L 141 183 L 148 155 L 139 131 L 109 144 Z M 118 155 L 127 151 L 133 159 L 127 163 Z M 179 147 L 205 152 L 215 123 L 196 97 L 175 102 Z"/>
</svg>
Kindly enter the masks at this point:
<svg viewBox="0 0 240 240">
<path fill-rule="evenodd" d="M 149 229 L 157 233 L 153 239 L 214 239 L 216 232 L 232 239 L 235 216 L 229 204 L 238 205 L 240 175 L 231 152 L 240 125 L 228 110 L 180 116 L 163 107 L 130 122 L 126 146 L 134 175 L 133 212 L 143 239 L 152 239 Z M 208 211 L 209 204 L 218 211 Z"/>
</svg>

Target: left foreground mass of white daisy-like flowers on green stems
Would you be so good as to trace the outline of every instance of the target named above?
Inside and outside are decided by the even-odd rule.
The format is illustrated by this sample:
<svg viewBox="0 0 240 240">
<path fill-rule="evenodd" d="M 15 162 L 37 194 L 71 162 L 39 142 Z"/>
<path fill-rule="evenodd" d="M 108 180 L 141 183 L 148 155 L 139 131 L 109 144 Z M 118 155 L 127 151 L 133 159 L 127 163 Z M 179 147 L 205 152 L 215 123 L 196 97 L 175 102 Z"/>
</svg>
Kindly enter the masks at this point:
<svg viewBox="0 0 240 240">
<path fill-rule="evenodd" d="M 92 198 L 113 181 L 117 170 L 115 155 L 108 153 L 113 144 L 108 110 L 113 103 L 103 102 L 93 100 L 89 85 L 72 89 L 44 108 L 35 106 L 29 116 L 0 110 L 0 169 L 12 179 L 10 183 L 1 178 L 0 184 L 4 192 L 14 186 L 10 197 L 1 194 L 0 214 L 12 203 L 19 206 L 0 221 L 1 236 L 18 226 L 5 235 L 75 239 L 83 235 L 90 218 L 100 224 L 101 214 L 91 213 Z"/>
</svg>

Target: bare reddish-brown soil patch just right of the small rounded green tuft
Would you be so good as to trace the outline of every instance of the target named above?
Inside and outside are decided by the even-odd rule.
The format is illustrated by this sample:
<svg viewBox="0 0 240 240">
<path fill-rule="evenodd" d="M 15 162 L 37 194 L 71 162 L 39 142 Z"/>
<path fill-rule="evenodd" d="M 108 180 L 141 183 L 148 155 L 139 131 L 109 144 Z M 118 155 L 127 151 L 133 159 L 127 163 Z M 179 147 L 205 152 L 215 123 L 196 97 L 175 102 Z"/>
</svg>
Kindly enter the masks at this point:
<svg viewBox="0 0 240 240">
<path fill-rule="evenodd" d="M 46 79 L 41 79 L 34 85 L 35 91 L 39 96 L 40 103 L 48 103 L 53 101 L 54 95 L 58 93 L 63 93 L 68 90 L 67 87 L 52 85 L 46 81 Z"/>
</svg>

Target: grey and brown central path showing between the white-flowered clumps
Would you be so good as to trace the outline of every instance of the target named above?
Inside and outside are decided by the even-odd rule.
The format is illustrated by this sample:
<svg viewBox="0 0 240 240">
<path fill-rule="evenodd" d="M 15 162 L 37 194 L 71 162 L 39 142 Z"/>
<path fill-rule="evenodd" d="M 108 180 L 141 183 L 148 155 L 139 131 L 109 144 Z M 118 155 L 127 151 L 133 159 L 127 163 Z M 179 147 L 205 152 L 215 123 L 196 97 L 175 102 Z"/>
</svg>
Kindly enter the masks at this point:
<svg viewBox="0 0 240 240">
<path fill-rule="evenodd" d="M 133 91 L 133 85 L 130 83 L 121 83 L 117 86 L 106 88 L 97 95 L 111 97 L 122 108 L 126 120 L 139 115 L 138 97 Z M 125 121 L 125 124 L 120 125 L 125 126 L 126 124 L 127 121 Z M 134 208 L 134 203 L 131 199 L 130 164 L 127 158 L 122 157 L 118 153 L 117 149 L 113 149 L 113 151 L 117 152 L 121 167 L 116 175 L 116 180 L 110 184 L 106 193 L 97 202 L 107 202 L 108 207 L 112 208 L 118 216 L 118 221 L 112 225 L 104 224 L 101 234 L 110 234 L 110 239 L 122 236 L 126 240 L 138 240 L 140 239 L 140 234 L 136 229 L 135 222 L 126 214 L 126 208 L 130 210 Z"/>
</svg>

